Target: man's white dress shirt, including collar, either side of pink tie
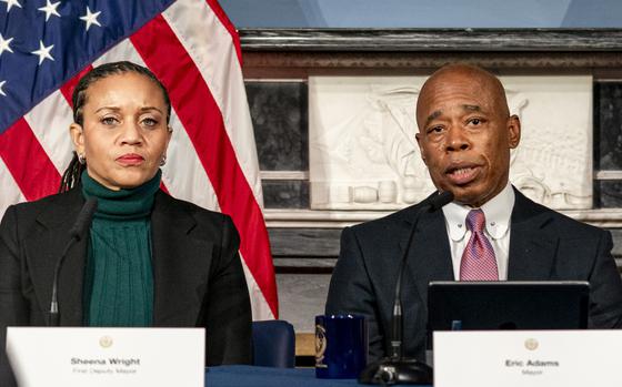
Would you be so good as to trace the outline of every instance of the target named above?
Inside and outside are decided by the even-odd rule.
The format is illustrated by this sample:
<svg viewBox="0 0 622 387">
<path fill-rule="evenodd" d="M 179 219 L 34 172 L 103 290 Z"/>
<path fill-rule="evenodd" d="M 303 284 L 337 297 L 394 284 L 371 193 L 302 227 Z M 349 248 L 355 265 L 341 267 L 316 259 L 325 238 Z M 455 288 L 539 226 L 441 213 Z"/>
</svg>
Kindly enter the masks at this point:
<svg viewBox="0 0 622 387">
<path fill-rule="evenodd" d="M 508 279 L 508 257 L 510 255 L 510 217 L 514 207 L 514 190 L 508 185 L 496 196 L 481 206 L 485 216 L 484 234 L 490 241 L 496 257 L 499 279 Z M 443 207 L 445 226 L 449 236 L 453 277 L 460 279 L 460 261 L 471 232 L 466 230 L 466 214 L 473 207 L 449 203 Z"/>
</svg>

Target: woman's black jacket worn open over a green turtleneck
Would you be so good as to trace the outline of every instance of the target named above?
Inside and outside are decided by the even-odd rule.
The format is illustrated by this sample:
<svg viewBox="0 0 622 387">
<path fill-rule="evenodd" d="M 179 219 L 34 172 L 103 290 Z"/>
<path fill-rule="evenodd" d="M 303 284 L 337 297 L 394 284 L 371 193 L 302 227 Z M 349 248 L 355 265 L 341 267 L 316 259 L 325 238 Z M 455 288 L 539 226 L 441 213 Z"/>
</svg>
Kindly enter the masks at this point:
<svg viewBox="0 0 622 387">
<path fill-rule="evenodd" d="M 0 224 L 0 386 L 9 385 L 7 326 L 46 326 L 54 265 L 84 200 L 80 190 L 13 205 Z M 159 191 L 151 213 L 153 326 L 205 327 L 208 365 L 251 361 L 251 308 L 239 235 L 227 215 Z M 82 325 L 88 238 L 59 277 L 61 326 Z"/>
</svg>

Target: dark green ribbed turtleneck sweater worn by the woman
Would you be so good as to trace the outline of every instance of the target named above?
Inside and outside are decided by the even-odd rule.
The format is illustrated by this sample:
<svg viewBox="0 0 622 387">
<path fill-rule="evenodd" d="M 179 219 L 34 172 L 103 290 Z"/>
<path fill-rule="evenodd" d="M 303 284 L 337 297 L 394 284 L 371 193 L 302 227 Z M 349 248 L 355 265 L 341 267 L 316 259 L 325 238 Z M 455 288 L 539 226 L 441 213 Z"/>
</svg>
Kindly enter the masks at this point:
<svg viewBox="0 0 622 387">
<path fill-rule="evenodd" d="M 112 191 L 82 173 L 82 195 L 98 200 L 84 271 L 86 326 L 152 325 L 150 215 L 160 179 L 158 171 L 136 189 Z"/>
</svg>

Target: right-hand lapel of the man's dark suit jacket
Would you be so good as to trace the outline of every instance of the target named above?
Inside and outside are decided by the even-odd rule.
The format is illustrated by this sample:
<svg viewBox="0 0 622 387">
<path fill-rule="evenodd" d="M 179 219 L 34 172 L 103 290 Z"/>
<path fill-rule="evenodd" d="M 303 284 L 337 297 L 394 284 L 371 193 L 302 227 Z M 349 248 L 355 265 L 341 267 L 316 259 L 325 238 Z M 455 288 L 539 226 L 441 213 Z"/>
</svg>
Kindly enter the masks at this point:
<svg viewBox="0 0 622 387">
<path fill-rule="evenodd" d="M 553 275 L 559 235 L 549 211 L 514 189 L 510 234 L 509 281 L 543 281 Z"/>
</svg>

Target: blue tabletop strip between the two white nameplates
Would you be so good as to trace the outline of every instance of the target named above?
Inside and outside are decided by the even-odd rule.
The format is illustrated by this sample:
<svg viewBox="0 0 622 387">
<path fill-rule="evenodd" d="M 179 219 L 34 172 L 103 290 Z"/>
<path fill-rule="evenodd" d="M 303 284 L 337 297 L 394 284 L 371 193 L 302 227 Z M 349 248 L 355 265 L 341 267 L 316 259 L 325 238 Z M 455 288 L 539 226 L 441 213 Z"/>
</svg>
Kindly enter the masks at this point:
<svg viewBox="0 0 622 387">
<path fill-rule="evenodd" d="M 220 366 L 205 369 L 207 387 L 359 386 L 355 379 L 318 379 L 314 368 Z M 362 385 L 360 385 L 362 386 Z"/>
</svg>

